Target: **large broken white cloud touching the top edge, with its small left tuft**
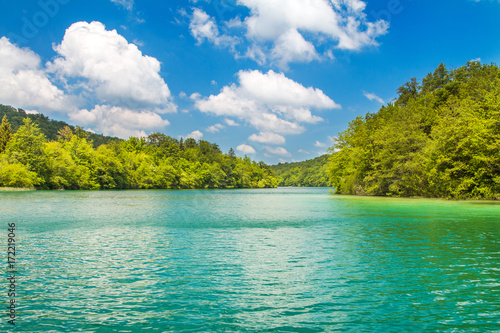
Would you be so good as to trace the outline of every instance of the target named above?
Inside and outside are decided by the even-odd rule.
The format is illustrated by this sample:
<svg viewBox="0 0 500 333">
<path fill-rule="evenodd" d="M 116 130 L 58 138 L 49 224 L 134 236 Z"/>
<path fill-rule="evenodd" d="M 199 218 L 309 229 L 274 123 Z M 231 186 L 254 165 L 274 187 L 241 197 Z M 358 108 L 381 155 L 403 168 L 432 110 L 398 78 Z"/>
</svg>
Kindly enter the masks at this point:
<svg viewBox="0 0 500 333">
<path fill-rule="evenodd" d="M 361 0 L 239 0 L 238 4 L 247 7 L 249 15 L 243 20 L 237 17 L 225 22 L 228 29 L 234 30 L 233 37 L 247 41 L 240 43 L 241 49 L 234 52 L 235 56 L 282 69 L 292 62 L 332 58 L 332 49 L 360 50 L 378 45 L 377 37 L 387 33 L 389 27 L 384 20 L 370 22 L 364 13 L 366 4 Z M 195 9 L 195 13 L 201 12 Z M 192 21 L 196 19 L 202 24 L 191 30 L 203 32 L 193 35 L 220 45 L 215 20 L 204 14 L 193 15 Z M 240 36 L 241 31 L 244 35 Z"/>
</svg>

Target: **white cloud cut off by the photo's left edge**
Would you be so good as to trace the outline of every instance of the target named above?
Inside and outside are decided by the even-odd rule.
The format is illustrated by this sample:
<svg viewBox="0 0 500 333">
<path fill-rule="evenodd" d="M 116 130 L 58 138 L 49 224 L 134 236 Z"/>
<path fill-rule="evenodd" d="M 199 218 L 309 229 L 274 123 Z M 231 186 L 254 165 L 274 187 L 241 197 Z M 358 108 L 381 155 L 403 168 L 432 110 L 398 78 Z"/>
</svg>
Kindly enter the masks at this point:
<svg viewBox="0 0 500 333">
<path fill-rule="evenodd" d="M 33 51 L 0 38 L 1 102 L 48 113 L 74 109 L 76 100 L 52 84 L 40 63 Z"/>
</svg>

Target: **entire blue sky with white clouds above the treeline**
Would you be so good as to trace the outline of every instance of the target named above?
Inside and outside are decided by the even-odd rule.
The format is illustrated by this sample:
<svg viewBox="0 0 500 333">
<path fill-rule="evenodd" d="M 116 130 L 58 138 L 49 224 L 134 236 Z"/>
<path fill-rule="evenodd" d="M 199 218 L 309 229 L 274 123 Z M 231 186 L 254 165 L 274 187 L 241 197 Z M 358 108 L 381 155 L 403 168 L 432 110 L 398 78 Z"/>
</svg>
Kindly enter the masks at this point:
<svg viewBox="0 0 500 333">
<path fill-rule="evenodd" d="M 441 62 L 500 62 L 499 0 L 23 0 L 0 22 L 0 104 L 268 164 L 326 153 Z"/>
</svg>

